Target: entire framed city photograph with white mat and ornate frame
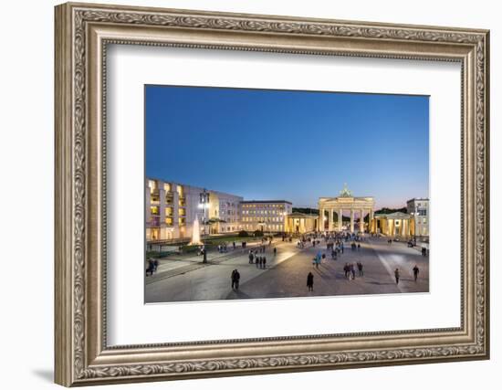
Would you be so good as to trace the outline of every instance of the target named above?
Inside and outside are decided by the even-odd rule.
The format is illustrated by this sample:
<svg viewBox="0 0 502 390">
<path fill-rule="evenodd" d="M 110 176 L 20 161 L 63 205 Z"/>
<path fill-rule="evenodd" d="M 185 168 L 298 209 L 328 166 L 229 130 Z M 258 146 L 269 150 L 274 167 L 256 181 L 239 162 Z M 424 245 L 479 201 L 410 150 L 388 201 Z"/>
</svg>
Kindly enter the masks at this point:
<svg viewBox="0 0 502 390">
<path fill-rule="evenodd" d="M 55 19 L 58 384 L 489 357 L 488 31 Z"/>
</svg>

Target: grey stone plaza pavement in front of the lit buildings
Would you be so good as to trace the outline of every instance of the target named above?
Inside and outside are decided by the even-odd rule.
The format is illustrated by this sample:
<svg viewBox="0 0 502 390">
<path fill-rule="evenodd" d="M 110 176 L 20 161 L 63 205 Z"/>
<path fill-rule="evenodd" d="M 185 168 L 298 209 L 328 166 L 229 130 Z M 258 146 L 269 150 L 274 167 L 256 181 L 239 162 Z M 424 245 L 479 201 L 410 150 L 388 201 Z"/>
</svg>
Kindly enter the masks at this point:
<svg viewBox="0 0 502 390">
<path fill-rule="evenodd" d="M 240 248 L 225 256 L 210 258 L 210 264 L 202 264 L 201 258 L 174 260 L 182 265 L 173 266 L 163 260 L 158 275 L 147 278 L 146 302 L 186 300 L 261 299 L 284 297 L 309 297 L 329 295 L 360 295 L 399 292 L 427 292 L 429 281 L 428 257 L 423 257 L 405 243 L 388 244 L 385 238 L 369 238 L 361 243 L 360 250 L 351 250 L 345 243 L 344 253 L 331 260 L 326 246 L 298 249 L 293 243 L 276 241 L 267 247 L 267 269 L 256 269 L 248 264 L 247 250 Z M 274 258 L 272 248 L 277 247 Z M 327 258 L 319 269 L 312 266 L 312 258 L 321 248 Z M 231 249 L 232 250 L 232 249 Z M 219 255 L 219 254 L 218 254 Z M 346 262 L 361 261 L 364 276 L 345 279 L 343 266 Z M 413 266 L 420 269 L 419 279 L 413 280 Z M 164 267 L 162 269 L 162 267 Z M 173 267 L 170 269 L 170 267 Z M 399 268 L 401 280 L 396 285 L 394 269 Z M 230 275 L 238 269 L 241 275 L 239 290 L 231 289 Z M 307 275 L 314 274 L 314 290 L 307 289 Z M 167 272 L 167 273 L 166 273 Z M 162 277 L 163 274 L 163 277 Z"/>
</svg>

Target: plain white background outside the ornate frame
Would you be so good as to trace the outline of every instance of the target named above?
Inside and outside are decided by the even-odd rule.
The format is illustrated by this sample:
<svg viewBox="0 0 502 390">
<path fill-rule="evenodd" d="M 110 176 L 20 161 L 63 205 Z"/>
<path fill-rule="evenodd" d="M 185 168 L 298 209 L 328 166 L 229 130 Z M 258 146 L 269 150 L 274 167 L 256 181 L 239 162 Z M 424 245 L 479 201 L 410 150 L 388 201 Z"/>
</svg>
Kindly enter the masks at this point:
<svg viewBox="0 0 502 390">
<path fill-rule="evenodd" d="M 103 3 L 113 4 L 106 0 Z M 502 139 L 497 129 L 502 115 L 501 10 L 497 2 L 473 1 L 225 1 L 167 0 L 126 1 L 214 11 L 327 17 L 491 29 L 491 221 L 492 221 L 492 359 L 484 362 L 425 364 L 331 372 L 275 374 L 119 388 L 172 389 L 256 388 L 305 389 L 337 386 L 407 390 L 437 388 L 497 388 L 502 369 L 502 319 L 499 278 L 502 252 L 502 186 L 497 180 L 502 163 Z M 9 2 L 2 5 L 2 59 L 0 60 L 0 384 L 3 388 L 42 389 L 52 384 L 53 367 L 53 6 L 52 0 Z M 499 200 L 497 203 L 497 199 Z M 196 320 L 194 320 L 196 321 Z M 127 387 L 126 387 L 127 386 Z"/>
</svg>

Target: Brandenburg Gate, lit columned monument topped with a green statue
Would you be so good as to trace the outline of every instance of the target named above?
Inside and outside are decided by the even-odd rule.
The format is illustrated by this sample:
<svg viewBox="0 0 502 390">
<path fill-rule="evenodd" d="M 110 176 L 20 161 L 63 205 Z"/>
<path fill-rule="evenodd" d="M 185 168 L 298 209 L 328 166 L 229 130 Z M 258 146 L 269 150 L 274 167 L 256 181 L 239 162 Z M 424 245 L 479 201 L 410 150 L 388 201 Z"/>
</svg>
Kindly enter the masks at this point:
<svg viewBox="0 0 502 390">
<path fill-rule="evenodd" d="M 352 196 L 344 185 L 343 190 L 337 197 L 320 197 L 319 198 L 319 231 L 341 231 L 343 228 L 343 212 L 350 211 L 350 233 L 354 232 L 354 216 L 359 214 L 359 231 L 364 231 L 364 216 L 369 214 L 369 227 L 373 219 L 373 209 L 375 202 L 372 196 L 357 197 Z M 328 214 L 328 217 L 326 215 Z M 334 216 L 338 216 L 335 226 Z M 326 224 L 328 220 L 328 224 Z"/>
</svg>

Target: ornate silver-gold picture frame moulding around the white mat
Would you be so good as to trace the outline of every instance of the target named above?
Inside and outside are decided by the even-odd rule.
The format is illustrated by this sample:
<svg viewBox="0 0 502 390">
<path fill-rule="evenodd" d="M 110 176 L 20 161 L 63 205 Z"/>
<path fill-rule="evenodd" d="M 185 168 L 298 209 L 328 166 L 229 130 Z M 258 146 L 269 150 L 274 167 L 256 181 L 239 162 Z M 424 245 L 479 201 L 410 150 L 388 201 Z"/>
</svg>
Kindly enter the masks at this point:
<svg viewBox="0 0 502 390">
<path fill-rule="evenodd" d="M 461 326 L 107 345 L 108 44 L 456 61 L 462 67 Z M 55 352 L 59 385 L 489 357 L 489 32 L 115 5 L 56 7 Z"/>
</svg>

